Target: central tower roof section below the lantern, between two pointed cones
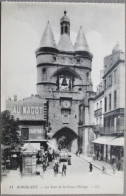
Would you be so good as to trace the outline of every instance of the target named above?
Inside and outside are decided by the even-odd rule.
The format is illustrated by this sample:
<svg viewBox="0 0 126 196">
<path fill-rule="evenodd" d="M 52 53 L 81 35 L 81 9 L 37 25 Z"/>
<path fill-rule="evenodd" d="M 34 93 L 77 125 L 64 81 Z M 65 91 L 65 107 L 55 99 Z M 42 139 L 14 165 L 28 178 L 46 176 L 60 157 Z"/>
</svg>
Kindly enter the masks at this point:
<svg viewBox="0 0 126 196">
<path fill-rule="evenodd" d="M 68 34 L 62 34 L 58 43 L 58 49 L 62 51 L 74 51 L 74 47 Z"/>
</svg>

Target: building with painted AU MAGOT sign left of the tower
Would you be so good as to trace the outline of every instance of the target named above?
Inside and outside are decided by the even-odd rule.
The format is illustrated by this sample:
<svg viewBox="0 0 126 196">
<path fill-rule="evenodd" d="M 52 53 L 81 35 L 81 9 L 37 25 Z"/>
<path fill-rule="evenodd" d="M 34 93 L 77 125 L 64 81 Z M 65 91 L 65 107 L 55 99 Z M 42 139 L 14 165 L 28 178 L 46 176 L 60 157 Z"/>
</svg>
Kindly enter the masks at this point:
<svg viewBox="0 0 126 196">
<path fill-rule="evenodd" d="M 6 109 L 11 112 L 15 119 L 18 119 L 20 126 L 20 136 L 22 140 L 41 149 L 45 145 L 45 126 L 47 119 L 47 103 L 38 95 L 31 95 L 31 97 L 23 100 L 10 98 L 6 101 Z"/>
</svg>

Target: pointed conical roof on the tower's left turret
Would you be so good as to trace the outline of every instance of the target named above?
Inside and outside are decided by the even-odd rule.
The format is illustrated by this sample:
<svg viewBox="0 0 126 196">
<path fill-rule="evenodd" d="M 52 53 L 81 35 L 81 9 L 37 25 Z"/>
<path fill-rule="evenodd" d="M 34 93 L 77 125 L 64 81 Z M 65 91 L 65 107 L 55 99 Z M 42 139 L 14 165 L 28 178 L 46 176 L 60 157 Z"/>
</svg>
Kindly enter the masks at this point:
<svg viewBox="0 0 126 196">
<path fill-rule="evenodd" d="M 56 42 L 54 40 L 54 36 L 49 21 L 47 23 L 42 39 L 40 41 L 40 47 L 49 47 L 49 48 L 57 49 Z"/>
</svg>

